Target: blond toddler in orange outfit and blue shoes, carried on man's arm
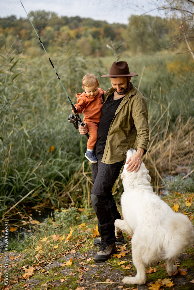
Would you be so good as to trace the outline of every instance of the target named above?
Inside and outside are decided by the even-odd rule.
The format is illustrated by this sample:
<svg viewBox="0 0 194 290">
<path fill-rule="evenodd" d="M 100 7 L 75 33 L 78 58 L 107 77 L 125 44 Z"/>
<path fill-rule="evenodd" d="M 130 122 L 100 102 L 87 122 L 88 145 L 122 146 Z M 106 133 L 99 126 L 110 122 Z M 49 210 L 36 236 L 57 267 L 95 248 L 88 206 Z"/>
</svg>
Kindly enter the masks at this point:
<svg viewBox="0 0 194 290">
<path fill-rule="evenodd" d="M 87 143 L 87 151 L 85 157 L 91 163 L 97 163 L 94 148 L 97 141 L 97 130 L 101 116 L 101 108 L 103 105 L 102 97 L 105 91 L 99 88 L 99 82 L 95 75 L 87 73 L 82 79 L 82 88 L 85 93 L 76 94 L 77 104 L 75 108 L 78 114 L 83 112 L 83 122 L 88 125 L 90 138 Z M 72 110 L 74 113 L 74 111 Z"/>
</svg>

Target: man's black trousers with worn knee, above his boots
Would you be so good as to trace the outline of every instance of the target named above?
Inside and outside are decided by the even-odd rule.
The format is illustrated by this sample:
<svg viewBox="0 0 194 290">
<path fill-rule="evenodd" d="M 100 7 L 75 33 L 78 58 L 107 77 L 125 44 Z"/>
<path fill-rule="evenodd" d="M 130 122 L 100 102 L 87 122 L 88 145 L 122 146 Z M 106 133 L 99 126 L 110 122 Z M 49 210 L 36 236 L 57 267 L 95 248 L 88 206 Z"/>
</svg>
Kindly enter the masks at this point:
<svg viewBox="0 0 194 290">
<path fill-rule="evenodd" d="M 117 210 L 112 188 L 119 176 L 124 161 L 105 164 L 98 160 L 92 163 L 91 204 L 98 218 L 98 231 L 103 242 L 111 244 L 115 241 L 114 222 L 121 219 Z"/>
</svg>

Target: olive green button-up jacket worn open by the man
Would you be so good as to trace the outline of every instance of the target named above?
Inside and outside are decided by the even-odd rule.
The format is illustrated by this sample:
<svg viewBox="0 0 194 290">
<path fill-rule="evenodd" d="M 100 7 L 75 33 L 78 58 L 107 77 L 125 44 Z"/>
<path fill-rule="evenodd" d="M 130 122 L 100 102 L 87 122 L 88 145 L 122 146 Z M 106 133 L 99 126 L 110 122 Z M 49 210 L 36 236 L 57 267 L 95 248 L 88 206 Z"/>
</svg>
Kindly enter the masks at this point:
<svg viewBox="0 0 194 290">
<path fill-rule="evenodd" d="M 121 101 L 111 122 L 102 157 L 103 163 L 113 164 L 126 160 L 126 153 L 134 146 L 136 136 L 138 136 L 137 149 L 143 148 L 144 154 L 147 151 L 149 142 L 147 102 L 140 91 L 131 82 L 130 84 L 131 90 Z M 105 102 L 113 92 L 112 87 L 106 90 Z"/>
</svg>

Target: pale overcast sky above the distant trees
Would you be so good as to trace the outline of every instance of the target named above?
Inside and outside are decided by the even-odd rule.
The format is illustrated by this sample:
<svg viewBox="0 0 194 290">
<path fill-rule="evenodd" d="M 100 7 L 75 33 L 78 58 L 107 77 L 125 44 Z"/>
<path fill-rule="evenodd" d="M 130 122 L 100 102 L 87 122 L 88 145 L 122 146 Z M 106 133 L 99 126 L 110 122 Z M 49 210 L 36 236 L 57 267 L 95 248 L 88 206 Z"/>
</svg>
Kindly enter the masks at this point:
<svg viewBox="0 0 194 290">
<path fill-rule="evenodd" d="M 128 23 L 131 14 L 140 15 L 154 8 L 152 0 L 21 0 L 26 12 L 35 10 L 53 11 L 58 16 L 88 17 L 96 20 L 106 20 L 108 23 Z M 156 1 L 155 1 L 156 2 Z M 157 3 L 159 3 L 158 1 Z M 138 5 L 138 7 L 136 7 Z M 26 18 L 24 8 L 19 0 L 0 0 L 0 17 L 16 15 Z M 151 15 L 159 15 L 157 10 Z"/>
</svg>

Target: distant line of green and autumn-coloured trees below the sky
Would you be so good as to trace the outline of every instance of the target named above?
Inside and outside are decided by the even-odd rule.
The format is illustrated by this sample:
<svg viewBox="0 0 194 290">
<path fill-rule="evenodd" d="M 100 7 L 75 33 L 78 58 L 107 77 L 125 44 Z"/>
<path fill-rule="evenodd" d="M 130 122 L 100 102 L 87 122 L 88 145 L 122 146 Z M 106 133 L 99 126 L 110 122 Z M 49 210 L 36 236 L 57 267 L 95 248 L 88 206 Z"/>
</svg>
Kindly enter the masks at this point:
<svg viewBox="0 0 194 290">
<path fill-rule="evenodd" d="M 128 51 L 131 54 L 177 49 L 182 44 L 182 25 L 178 17 L 131 15 L 128 25 L 106 21 L 67 17 L 45 10 L 31 11 L 29 17 L 46 48 L 63 48 L 70 42 L 84 56 L 106 56 Z M 187 25 L 187 24 L 185 24 Z M 191 35 L 190 35 L 191 36 Z M 193 46 L 193 38 L 188 39 Z M 29 20 L 16 16 L 0 18 L 0 47 L 21 52 L 36 46 L 37 39 Z"/>
</svg>

